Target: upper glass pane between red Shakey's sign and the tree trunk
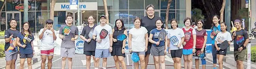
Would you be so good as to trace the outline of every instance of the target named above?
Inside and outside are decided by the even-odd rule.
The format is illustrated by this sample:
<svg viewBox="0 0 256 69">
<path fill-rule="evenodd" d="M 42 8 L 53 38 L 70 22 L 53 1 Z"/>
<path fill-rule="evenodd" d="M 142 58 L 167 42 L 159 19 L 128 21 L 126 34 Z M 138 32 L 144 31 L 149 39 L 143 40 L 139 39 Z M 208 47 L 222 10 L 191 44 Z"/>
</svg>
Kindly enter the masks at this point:
<svg viewBox="0 0 256 69">
<path fill-rule="evenodd" d="M 50 0 L 36 0 L 36 10 L 50 10 Z"/>
</svg>

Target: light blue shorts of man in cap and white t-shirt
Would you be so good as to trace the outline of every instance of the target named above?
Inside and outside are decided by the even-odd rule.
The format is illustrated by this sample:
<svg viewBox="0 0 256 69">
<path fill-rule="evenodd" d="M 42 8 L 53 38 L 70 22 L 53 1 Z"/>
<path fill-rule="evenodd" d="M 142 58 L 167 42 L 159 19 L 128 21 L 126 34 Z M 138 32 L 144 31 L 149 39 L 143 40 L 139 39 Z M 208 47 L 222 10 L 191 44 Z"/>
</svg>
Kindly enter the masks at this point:
<svg viewBox="0 0 256 69">
<path fill-rule="evenodd" d="M 95 58 L 108 58 L 110 56 L 109 49 L 95 49 Z"/>
</svg>

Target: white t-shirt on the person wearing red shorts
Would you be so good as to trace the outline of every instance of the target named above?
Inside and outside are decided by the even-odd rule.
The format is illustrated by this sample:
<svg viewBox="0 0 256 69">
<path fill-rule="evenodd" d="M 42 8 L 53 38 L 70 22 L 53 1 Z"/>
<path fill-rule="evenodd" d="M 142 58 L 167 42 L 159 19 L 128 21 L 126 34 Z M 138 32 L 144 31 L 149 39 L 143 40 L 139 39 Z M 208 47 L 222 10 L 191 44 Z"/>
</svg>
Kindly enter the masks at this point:
<svg viewBox="0 0 256 69">
<path fill-rule="evenodd" d="M 43 32 L 43 29 L 40 29 L 39 31 L 39 34 L 41 34 Z M 54 30 L 54 33 L 55 33 L 55 36 L 57 35 L 57 31 Z M 55 46 L 54 46 L 54 40 L 53 40 L 53 32 L 51 30 L 48 30 L 46 29 L 44 32 L 43 32 L 43 38 L 40 40 L 41 43 L 41 47 L 40 49 L 41 50 L 51 50 L 53 49 Z"/>
</svg>

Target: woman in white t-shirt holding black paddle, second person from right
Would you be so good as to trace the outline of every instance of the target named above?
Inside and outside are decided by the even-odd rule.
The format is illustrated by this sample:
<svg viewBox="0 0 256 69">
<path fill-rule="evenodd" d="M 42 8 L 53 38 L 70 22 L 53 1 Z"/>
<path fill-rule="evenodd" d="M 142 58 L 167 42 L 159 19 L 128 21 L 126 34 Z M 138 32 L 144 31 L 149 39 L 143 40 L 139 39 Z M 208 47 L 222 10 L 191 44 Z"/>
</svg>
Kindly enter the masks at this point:
<svg viewBox="0 0 256 69">
<path fill-rule="evenodd" d="M 228 41 L 228 43 L 230 45 L 230 42 L 232 41 L 232 37 L 231 37 L 230 32 L 226 31 L 227 26 L 226 26 L 225 22 L 221 22 L 220 25 L 221 25 L 221 32 L 219 32 L 217 34 L 217 37 L 215 39 L 215 48 L 217 49 L 216 53 L 217 53 L 217 58 L 218 58 L 219 66 L 220 66 L 219 69 L 222 69 L 222 67 L 223 67 L 222 60 L 223 60 L 224 56 L 226 56 L 227 49 L 224 49 L 224 50 L 221 49 L 220 45 L 224 41 Z"/>
</svg>

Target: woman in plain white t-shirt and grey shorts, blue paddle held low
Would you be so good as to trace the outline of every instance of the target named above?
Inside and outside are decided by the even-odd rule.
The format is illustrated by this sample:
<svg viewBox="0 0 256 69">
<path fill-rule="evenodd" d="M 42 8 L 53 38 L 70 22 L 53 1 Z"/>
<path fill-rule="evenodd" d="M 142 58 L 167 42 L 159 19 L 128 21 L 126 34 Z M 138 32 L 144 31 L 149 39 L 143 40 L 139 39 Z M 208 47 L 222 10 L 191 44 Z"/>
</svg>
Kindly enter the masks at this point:
<svg viewBox="0 0 256 69">
<path fill-rule="evenodd" d="M 148 30 L 141 27 L 140 18 L 134 19 L 134 28 L 129 31 L 129 51 L 137 53 L 140 58 L 141 69 L 145 69 L 145 52 L 148 50 Z M 134 63 L 135 69 L 139 69 L 139 62 Z"/>
</svg>

